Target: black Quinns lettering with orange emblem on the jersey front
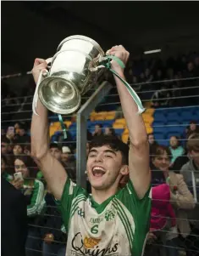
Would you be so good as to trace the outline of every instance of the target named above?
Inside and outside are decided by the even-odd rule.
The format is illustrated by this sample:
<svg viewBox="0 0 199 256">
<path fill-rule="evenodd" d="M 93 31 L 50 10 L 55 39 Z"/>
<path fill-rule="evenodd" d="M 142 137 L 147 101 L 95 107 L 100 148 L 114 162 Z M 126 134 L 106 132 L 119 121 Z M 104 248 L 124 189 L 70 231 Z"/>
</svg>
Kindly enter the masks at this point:
<svg viewBox="0 0 199 256">
<path fill-rule="evenodd" d="M 80 232 L 72 240 L 71 256 L 88 255 L 88 256 L 119 256 L 118 243 L 113 247 L 99 248 L 97 244 L 101 239 L 81 236 Z"/>
</svg>

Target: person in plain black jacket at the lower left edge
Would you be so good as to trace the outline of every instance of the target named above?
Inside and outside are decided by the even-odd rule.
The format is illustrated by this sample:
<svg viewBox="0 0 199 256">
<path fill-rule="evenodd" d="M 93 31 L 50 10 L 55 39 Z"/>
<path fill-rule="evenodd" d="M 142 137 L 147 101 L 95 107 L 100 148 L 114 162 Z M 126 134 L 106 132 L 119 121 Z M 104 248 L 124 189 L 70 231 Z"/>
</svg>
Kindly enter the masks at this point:
<svg viewBox="0 0 199 256">
<path fill-rule="evenodd" d="M 28 232 L 25 196 L 2 177 L 2 256 L 25 256 Z"/>
</svg>

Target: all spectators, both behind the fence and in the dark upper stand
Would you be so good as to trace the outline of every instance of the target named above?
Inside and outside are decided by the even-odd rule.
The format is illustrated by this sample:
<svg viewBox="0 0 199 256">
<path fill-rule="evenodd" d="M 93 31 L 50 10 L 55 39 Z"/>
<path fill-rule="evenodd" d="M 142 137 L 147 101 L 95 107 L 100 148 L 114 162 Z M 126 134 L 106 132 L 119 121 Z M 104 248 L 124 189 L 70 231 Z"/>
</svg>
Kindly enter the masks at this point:
<svg viewBox="0 0 199 256">
<path fill-rule="evenodd" d="M 140 93 L 142 100 L 152 99 L 153 107 L 198 105 L 197 98 L 190 101 L 187 97 L 183 102 L 178 99 L 198 94 L 198 79 L 190 82 L 157 82 L 198 76 L 199 57 L 196 54 L 177 60 L 171 58 L 166 63 L 161 60 L 141 60 L 131 63 L 127 69 L 127 79 L 132 87 Z M 138 82 L 148 82 L 148 85 L 142 86 Z M 196 86 L 190 90 L 178 89 Z M 148 90 L 152 92 L 145 93 Z M 171 101 L 170 98 L 174 97 L 177 99 Z M 11 101 L 7 101 L 9 107 Z M 64 256 L 67 234 L 53 195 L 39 166 L 30 156 L 29 128 L 30 122 L 16 122 L 14 126 L 2 128 L 2 177 L 25 196 L 29 223 L 26 256 Z M 97 124 L 93 134 L 87 132 L 87 140 L 89 143 L 97 136 L 108 135 L 116 136 L 114 129 L 111 126 L 102 128 L 101 124 Z M 180 139 L 187 139 L 187 143 L 181 144 Z M 72 140 L 69 132 L 67 139 L 64 139 L 63 133 L 53 135 L 50 151 L 63 164 L 69 178 L 75 181 L 76 148 Z M 196 203 L 199 202 L 199 127 L 195 121 L 191 122 L 185 129 L 184 138 L 170 137 L 169 147 L 160 145 L 153 134 L 148 134 L 148 141 L 153 201 L 151 231 L 145 255 L 178 256 L 181 247 L 187 256 L 196 256 L 199 250 L 199 211 Z M 87 190 L 91 192 L 89 182 Z M 194 219 L 198 220 L 194 222 Z"/>
</svg>

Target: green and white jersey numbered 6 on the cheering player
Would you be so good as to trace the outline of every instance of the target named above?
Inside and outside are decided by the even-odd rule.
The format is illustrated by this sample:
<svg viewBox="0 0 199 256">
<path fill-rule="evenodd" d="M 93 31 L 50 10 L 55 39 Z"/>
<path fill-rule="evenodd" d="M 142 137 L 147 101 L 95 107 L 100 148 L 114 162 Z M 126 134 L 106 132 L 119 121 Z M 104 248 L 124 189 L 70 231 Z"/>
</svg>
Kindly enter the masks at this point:
<svg viewBox="0 0 199 256">
<path fill-rule="evenodd" d="M 141 256 L 150 225 L 151 188 L 139 199 L 129 183 L 102 204 L 67 179 L 58 202 L 67 256 Z"/>
</svg>

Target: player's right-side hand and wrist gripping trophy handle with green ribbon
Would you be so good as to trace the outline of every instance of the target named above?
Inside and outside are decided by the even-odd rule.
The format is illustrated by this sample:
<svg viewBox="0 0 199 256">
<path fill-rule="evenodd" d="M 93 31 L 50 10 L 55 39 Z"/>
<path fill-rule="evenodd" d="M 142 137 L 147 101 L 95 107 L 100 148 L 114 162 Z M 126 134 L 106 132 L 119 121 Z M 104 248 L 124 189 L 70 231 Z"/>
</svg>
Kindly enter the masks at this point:
<svg viewBox="0 0 199 256">
<path fill-rule="evenodd" d="M 130 53 L 122 45 L 113 46 L 108 50 L 107 54 L 118 57 L 124 62 L 124 65 L 126 65 L 130 57 Z M 124 69 L 115 60 L 111 61 L 111 66 L 113 71 L 116 71 L 119 75 L 124 75 Z"/>
</svg>

